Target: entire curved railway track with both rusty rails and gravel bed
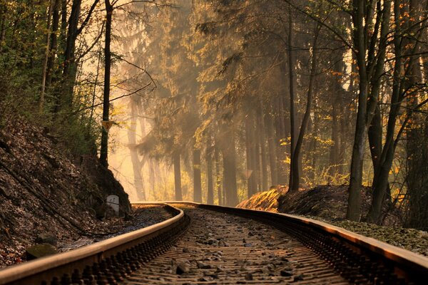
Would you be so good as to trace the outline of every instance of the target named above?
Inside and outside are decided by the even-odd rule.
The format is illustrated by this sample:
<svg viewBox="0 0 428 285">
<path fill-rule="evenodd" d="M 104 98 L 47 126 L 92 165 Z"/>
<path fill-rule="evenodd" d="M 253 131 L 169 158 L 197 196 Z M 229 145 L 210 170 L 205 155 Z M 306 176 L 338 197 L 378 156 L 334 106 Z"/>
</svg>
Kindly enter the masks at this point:
<svg viewBox="0 0 428 285">
<path fill-rule="evenodd" d="M 168 209 L 165 222 L 1 270 L 0 284 L 427 284 L 427 258 L 329 224 L 190 202 Z"/>
</svg>

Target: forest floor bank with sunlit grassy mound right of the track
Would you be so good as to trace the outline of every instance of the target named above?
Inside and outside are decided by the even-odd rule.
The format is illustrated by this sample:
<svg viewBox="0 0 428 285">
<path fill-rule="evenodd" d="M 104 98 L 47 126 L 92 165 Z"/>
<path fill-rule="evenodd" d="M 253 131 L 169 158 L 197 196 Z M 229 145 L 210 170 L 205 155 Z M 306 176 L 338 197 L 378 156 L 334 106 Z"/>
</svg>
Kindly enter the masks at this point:
<svg viewBox="0 0 428 285">
<path fill-rule="evenodd" d="M 367 213 L 370 206 L 368 190 L 366 187 L 362 191 L 363 215 Z M 317 219 L 428 256 L 428 233 L 402 227 L 402 217 L 399 211 L 389 211 L 384 217 L 382 226 L 346 220 L 346 185 L 317 186 L 296 193 L 287 193 L 287 187 L 277 187 L 253 195 L 250 199 L 241 202 L 238 207 L 283 212 Z"/>
</svg>

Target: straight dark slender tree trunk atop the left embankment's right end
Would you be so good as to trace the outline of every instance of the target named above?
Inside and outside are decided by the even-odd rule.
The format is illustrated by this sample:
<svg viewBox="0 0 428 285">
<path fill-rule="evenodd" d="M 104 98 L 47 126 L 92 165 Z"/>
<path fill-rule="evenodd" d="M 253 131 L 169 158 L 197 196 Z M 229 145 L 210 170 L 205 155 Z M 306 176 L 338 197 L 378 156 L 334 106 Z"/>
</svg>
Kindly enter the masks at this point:
<svg viewBox="0 0 428 285">
<path fill-rule="evenodd" d="M 103 121 L 108 122 L 108 115 L 110 111 L 110 70 L 111 70 L 111 21 L 113 17 L 113 6 L 110 0 L 106 0 L 106 45 L 104 47 L 104 94 L 103 94 Z M 103 128 L 101 134 L 101 150 L 100 150 L 101 164 L 108 167 L 108 129 Z"/>
</svg>

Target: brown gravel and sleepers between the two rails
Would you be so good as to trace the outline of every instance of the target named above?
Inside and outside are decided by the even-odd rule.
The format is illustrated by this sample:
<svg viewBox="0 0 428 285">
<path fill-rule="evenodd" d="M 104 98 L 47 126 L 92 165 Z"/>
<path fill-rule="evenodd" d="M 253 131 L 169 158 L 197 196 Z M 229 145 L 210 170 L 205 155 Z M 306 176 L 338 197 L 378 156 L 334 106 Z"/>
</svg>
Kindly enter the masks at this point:
<svg viewBox="0 0 428 285">
<path fill-rule="evenodd" d="M 183 209 L 191 221 L 183 237 L 124 284 L 349 284 L 275 227 L 198 207 Z"/>
</svg>

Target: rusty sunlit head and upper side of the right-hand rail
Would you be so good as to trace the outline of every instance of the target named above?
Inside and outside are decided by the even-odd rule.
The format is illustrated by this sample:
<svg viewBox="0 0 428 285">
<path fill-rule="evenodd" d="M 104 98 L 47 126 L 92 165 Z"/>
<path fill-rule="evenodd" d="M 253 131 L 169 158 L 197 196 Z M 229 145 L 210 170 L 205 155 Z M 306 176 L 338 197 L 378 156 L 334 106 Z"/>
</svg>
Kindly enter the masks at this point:
<svg viewBox="0 0 428 285">
<path fill-rule="evenodd" d="M 424 257 L 420 254 L 415 254 L 414 252 L 410 252 L 407 249 L 402 249 L 399 247 L 395 247 L 391 244 L 387 244 L 385 242 L 380 242 L 377 239 L 372 239 L 370 237 L 362 236 L 361 234 L 356 234 L 354 232 L 347 231 L 346 229 L 342 229 L 340 227 L 335 227 L 331 224 L 327 224 L 325 222 L 320 222 L 315 219 L 309 219 L 305 217 L 300 217 L 292 214 L 282 214 L 275 212 L 266 212 L 260 211 L 256 209 L 244 209 L 244 208 L 235 208 L 235 207 L 226 207 L 226 206 L 218 206 L 213 204 L 201 204 L 195 202 L 165 202 L 167 204 L 189 204 L 195 207 L 200 207 L 204 209 L 212 209 L 220 212 L 229 212 L 235 214 L 244 214 L 248 217 L 265 217 L 267 219 L 283 219 L 284 221 L 291 221 L 295 224 L 306 225 L 307 227 L 311 227 L 312 229 L 317 229 L 320 232 L 324 232 L 325 234 L 329 234 L 332 237 L 340 239 L 342 241 L 347 242 L 350 245 L 354 245 L 360 249 L 365 249 L 367 252 L 371 252 L 373 254 L 377 254 L 382 259 L 386 259 L 387 261 L 392 262 L 392 264 L 397 264 L 402 266 L 404 269 L 412 269 L 415 274 L 419 274 L 419 276 L 428 276 L 428 258 Z M 143 203 L 135 203 L 135 204 L 143 204 Z"/>
</svg>

